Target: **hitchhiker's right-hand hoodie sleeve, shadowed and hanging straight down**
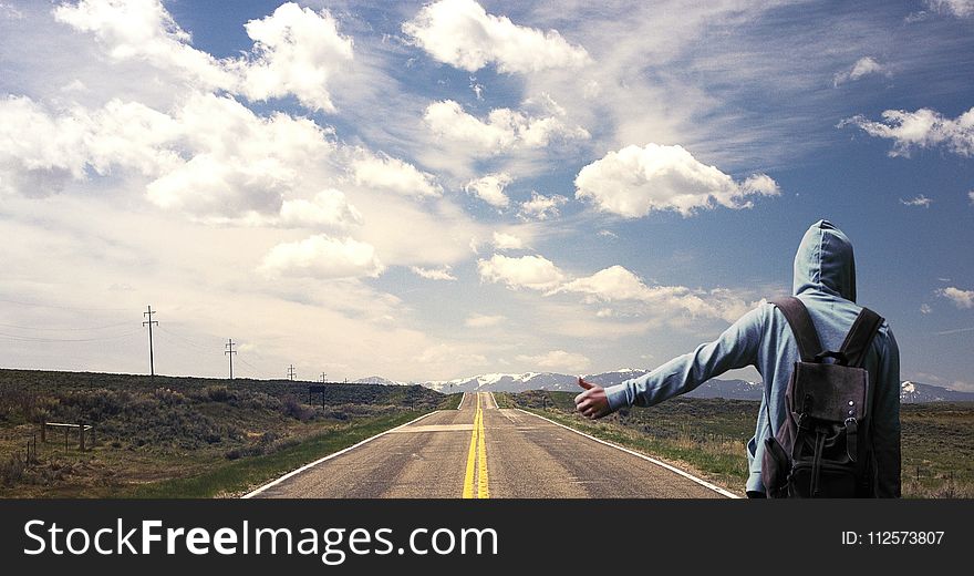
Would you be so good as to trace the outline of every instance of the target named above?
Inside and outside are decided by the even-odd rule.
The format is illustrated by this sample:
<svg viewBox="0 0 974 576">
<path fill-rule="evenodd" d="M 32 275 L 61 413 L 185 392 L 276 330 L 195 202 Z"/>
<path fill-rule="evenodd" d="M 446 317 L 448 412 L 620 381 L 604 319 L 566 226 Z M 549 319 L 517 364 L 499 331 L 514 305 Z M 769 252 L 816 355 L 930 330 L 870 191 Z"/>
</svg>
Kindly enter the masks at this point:
<svg viewBox="0 0 974 576">
<path fill-rule="evenodd" d="M 887 328 L 873 398 L 872 445 L 877 496 L 900 497 L 900 349 Z"/>
</svg>

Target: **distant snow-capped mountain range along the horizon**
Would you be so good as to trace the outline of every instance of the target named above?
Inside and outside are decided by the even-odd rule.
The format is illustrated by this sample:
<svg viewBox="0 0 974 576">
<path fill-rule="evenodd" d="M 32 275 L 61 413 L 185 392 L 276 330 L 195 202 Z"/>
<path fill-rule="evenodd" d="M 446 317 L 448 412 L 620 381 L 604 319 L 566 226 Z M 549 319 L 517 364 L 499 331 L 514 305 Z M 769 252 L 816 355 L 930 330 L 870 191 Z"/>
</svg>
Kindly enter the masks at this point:
<svg viewBox="0 0 974 576">
<path fill-rule="evenodd" d="M 611 385 L 639 378 L 646 370 L 621 369 L 612 372 L 589 374 L 584 379 L 600 385 Z M 525 390 L 551 390 L 556 392 L 580 391 L 578 377 L 557 372 L 525 372 L 521 374 L 488 373 L 455 380 L 431 380 L 426 382 L 401 382 L 373 376 L 355 380 L 363 384 L 410 385 L 421 384 L 446 394 L 458 392 L 524 392 Z M 690 398 L 726 398 L 732 400 L 760 400 L 764 387 L 760 382 L 747 380 L 707 380 L 692 392 Z M 974 393 L 960 392 L 933 384 L 904 381 L 900 385 L 900 401 L 903 403 L 920 402 L 972 402 Z"/>
</svg>

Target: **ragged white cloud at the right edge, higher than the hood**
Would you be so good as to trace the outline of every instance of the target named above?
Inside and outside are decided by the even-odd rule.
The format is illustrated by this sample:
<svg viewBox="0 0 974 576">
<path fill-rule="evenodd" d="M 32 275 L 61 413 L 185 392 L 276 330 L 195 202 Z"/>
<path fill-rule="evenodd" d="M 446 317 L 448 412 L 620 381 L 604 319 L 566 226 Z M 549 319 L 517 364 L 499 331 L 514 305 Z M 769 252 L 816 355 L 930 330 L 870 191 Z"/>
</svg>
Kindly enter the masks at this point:
<svg viewBox="0 0 974 576">
<path fill-rule="evenodd" d="M 953 120 L 930 109 L 887 110 L 882 117 L 873 122 L 862 115 L 852 116 L 840 122 L 839 127 L 859 126 L 870 136 L 892 140 L 890 156 L 909 156 L 913 148 L 935 146 L 944 146 L 960 156 L 974 155 L 974 107 Z"/>
</svg>

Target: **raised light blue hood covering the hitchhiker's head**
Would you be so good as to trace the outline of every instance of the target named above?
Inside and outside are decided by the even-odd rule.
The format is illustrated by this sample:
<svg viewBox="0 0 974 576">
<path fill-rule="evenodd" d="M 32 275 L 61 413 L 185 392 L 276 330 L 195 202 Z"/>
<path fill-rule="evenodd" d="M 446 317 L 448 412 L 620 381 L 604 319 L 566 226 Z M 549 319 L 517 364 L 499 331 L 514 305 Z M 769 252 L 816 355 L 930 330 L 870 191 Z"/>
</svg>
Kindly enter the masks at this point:
<svg viewBox="0 0 974 576">
<path fill-rule="evenodd" d="M 812 224 L 795 255 L 795 296 L 817 291 L 856 301 L 852 243 L 829 220 Z"/>
</svg>

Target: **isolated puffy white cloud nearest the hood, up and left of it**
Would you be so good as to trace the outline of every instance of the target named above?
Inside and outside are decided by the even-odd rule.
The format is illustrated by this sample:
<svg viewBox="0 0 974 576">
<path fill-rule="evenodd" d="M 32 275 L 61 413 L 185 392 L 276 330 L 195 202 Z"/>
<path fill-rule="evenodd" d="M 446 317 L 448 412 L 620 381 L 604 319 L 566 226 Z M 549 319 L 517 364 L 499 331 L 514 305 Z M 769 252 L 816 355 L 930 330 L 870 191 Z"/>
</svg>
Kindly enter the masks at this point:
<svg viewBox="0 0 974 576">
<path fill-rule="evenodd" d="M 683 216 L 712 208 L 748 208 L 753 196 L 780 194 L 765 174 L 735 182 L 707 166 L 682 146 L 630 145 L 583 167 L 576 177 L 576 196 L 602 212 L 639 218 L 652 210 L 677 210 Z"/>
</svg>

